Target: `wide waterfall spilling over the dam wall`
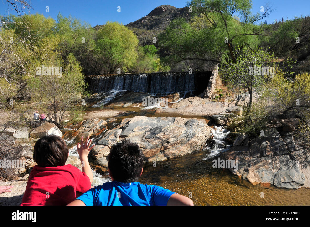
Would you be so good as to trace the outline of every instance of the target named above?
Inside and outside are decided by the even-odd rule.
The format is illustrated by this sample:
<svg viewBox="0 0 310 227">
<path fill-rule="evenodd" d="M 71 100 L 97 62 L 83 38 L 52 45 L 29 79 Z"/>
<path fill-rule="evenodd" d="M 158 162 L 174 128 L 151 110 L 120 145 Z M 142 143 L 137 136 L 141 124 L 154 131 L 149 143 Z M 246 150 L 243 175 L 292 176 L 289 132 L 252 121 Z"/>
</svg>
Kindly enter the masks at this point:
<svg viewBox="0 0 310 227">
<path fill-rule="evenodd" d="M 143 74 L 116 74 L 86 76 L 92 93 L 110 90 L 147 92 L 152 95 L 180 94 L 198 95 L 208 86 L 211 71 L 206 72 L 164 72 Z"/>
</svg>

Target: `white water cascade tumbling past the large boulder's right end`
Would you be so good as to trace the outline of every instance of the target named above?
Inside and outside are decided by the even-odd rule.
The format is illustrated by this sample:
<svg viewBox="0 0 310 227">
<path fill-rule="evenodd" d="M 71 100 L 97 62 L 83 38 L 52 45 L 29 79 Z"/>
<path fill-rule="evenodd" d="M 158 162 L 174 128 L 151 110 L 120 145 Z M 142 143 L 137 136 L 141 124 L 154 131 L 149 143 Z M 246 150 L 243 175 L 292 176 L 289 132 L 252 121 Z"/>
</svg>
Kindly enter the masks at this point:
<svg viewBox="0 0 310 227">
<path fill-rule="evenodd" d="M 204 148 L 204 150 L 210 151 L 209 154 L 206 155 L 206 157 L 203 158 L 203 160 L 210 159 L 220 153 L 226 152 L 229 150 L 231 146 L 226 146 L 226 142 L 224 142 L 224 139 L 227 137 L 227 135 L 230 133 L 229 131 L 225 130 L 223 126 L 214 126 L 214 129 L 211 129 L 211 133 L 213 134 L 213 140 L 214 143 L 212 147 L 207 146 Z"/>
</svg>

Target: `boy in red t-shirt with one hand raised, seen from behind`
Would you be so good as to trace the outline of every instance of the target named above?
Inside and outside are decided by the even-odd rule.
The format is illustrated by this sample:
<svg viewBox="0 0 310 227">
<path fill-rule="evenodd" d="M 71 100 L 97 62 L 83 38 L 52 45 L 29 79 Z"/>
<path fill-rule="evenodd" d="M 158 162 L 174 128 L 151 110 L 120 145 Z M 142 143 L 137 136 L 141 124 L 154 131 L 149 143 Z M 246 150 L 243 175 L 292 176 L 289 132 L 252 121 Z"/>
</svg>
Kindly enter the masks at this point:
<svg viewBox="0 0 310 227">
<path fill-rule="evenodd" d="M 95 146 L 87 137 L 78 143 L 82 172 L 65 165 L 69 151 L 63 138 L 49 135 L 39 139 L 33 148 L 33 160 L 38 164 L 30 172 L 23 205 L 67 205 L 91 188 L 93 175 L 87 155 Z M 78 193 L 77 193 L 78 192 Z"/>
</svg>

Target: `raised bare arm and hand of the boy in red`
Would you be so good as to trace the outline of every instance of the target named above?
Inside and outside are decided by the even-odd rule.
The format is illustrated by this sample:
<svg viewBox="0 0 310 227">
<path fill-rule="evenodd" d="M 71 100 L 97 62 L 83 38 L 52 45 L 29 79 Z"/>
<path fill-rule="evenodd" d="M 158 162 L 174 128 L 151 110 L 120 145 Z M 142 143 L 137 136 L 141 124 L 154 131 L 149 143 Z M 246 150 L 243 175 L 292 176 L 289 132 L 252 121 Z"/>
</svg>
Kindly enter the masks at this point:
<svg viewBox="0 0 310 227">
<path fill-rule="evenodd" d="M 95 146 L 95 144 L 91 147 L 91 140 L 88 143 L 89 136 L 87 137 L 85 143 L 84 138 L 81 139 L 81 145 L 78 143 L 78 155 L 80 156 L 81 164 L 82 164 L 82 172 L 85 172 L 89 177 L 91 183 L 93 182 L 93 173 L 91 172 L 91 166 L 89 165 L 87 155 L 91 151 L 91 149 Z M 88 144 L 87 144 L 88 143 Z"/>
</svg>

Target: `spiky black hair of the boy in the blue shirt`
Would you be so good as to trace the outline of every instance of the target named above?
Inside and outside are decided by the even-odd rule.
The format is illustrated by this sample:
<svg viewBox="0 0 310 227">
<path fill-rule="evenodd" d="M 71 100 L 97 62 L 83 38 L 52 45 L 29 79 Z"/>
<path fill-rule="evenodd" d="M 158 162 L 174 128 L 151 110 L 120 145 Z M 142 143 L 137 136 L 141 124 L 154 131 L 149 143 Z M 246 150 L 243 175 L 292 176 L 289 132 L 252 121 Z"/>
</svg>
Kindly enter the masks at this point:
<svg viewBox="0 0 310 227">
<path fill-rule="evenodd" d="M 108 168 L 115 181 L 138 181 L 143 168 L 143 154 L 137 143 L 124 139 L 114 144 L 108 160 Z"/>
</svg>

